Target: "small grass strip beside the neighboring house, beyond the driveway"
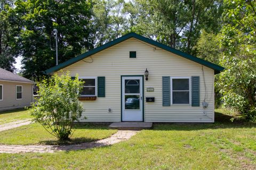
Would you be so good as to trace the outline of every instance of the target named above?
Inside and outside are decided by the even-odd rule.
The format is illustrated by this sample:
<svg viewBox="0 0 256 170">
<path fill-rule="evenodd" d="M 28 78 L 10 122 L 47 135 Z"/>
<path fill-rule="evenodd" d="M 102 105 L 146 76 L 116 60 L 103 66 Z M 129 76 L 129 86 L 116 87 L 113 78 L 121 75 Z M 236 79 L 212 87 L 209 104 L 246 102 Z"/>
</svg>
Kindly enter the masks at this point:
<svg viewBox="0 0 256 170">
<path fill-rule="evenodd" d="M 32 118 L 26 109 L 15 109 L 12 111 L 0 112 L 0 124 L 10 123 L 19 120 Z"/>
</svg>

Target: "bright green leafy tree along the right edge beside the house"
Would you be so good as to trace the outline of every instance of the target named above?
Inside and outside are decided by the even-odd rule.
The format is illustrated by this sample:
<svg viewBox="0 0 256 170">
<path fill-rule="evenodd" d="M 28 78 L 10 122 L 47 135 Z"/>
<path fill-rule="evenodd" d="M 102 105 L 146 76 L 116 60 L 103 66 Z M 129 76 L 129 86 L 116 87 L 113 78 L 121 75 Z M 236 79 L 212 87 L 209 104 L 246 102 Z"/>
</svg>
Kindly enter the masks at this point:
<svg viewBox="0 0 256 170">
<path fill-rule="evenodd" d="M 226 106 L 256 122 L 256 2 L 225 1 L 223 16 L 220 92 Z"/>
</svg>

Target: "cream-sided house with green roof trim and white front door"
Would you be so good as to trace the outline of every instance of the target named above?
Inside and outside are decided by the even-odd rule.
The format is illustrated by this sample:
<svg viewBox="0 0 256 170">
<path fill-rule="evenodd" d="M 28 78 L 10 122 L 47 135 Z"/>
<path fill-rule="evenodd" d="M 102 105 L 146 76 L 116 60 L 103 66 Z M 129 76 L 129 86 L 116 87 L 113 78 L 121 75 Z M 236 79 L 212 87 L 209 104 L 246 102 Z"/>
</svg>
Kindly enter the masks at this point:
<svg viewBox="0 0 256 170">
<path fill-rule="evenodd" d="M 214 122 L 214 74 L 224 68 L 129 33 L 45 73 L 61 69 L 85 81 L 81 122 Z"/>
</svg>

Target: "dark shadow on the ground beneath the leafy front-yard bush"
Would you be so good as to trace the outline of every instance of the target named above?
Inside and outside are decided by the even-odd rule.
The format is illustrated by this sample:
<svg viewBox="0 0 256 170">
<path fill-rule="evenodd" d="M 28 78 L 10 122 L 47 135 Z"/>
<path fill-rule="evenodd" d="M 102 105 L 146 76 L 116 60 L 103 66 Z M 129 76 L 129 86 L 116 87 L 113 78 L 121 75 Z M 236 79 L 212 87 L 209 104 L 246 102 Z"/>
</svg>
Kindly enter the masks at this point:
<svg viewBox="0 0 256 170">
<path fill-rule="evenodd" d="M 40 141 L 40 144 L 43 145 L 73 145 L 73 144 L 79 144 L 79 143 L 84 143 L 84 142 L 93 142 L 97 141 L 98 139 L 93 139 L 93 138 L 73 138 L 70 140 L 65 140 L 65 141 L 60 141 L 60 140 L 45 140 L 45 141 Z"/>
</svg>

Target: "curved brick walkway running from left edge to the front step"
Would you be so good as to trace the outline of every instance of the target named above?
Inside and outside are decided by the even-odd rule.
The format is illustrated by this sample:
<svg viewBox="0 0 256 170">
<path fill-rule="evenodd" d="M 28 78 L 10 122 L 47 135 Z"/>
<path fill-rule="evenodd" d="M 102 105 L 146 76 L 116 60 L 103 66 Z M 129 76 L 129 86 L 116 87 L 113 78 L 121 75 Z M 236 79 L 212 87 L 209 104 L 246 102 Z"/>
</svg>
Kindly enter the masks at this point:
<svg viewBox="0 0 256 170">
<path fill-rule="evenodd" d="M 53 153 L 55 151 L 80 150 L 94 147 L 109 146 L 130 139 L 138 131 L 119 130 L 109 138 L 95 142 L 86 142 L 76 145 L 0 145 L 0 153 L 17 154 L 21 152 Z"/>
</svg>

